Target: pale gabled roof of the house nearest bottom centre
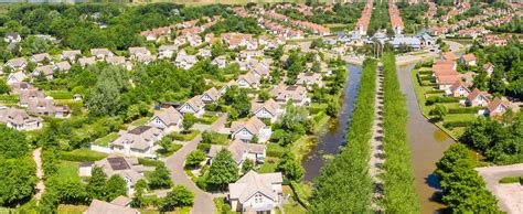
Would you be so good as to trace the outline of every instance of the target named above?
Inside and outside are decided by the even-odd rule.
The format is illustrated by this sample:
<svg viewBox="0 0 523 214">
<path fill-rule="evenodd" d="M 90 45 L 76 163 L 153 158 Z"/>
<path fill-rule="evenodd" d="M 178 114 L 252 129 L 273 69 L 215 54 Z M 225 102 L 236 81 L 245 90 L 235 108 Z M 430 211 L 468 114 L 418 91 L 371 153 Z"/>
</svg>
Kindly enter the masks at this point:
<svg viewBox="0 0 523 214">
<path fill-rule="evenodd" d="M 244 203 L 259 192 L 277 201 L 278 193 L 273 190 L 273 184 L 278 184 L 282 181 L 280 172 L 258 174 L 255 171 L 249 171 L 235 183 L 228 184 L 230 197 L 238 199 L 239 203 Z"/>
</svg>

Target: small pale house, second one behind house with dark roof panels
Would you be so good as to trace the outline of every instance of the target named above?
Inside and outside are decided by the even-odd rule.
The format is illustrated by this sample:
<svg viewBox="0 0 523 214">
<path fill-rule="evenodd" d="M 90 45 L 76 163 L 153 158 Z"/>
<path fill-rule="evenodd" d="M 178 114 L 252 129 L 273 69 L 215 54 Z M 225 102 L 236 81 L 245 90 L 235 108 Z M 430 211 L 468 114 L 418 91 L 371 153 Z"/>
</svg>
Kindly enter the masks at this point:
<svg viewBox="0 0 523 214">
<path fill-rule="evenodd" d="M 182 128 L 183 116 L 172 106 L 154 111 L 154 115 L 149 119 L 148 125 L 157 127 L 166 133 L 172 131 L 180 131 Z"/>
</svg>

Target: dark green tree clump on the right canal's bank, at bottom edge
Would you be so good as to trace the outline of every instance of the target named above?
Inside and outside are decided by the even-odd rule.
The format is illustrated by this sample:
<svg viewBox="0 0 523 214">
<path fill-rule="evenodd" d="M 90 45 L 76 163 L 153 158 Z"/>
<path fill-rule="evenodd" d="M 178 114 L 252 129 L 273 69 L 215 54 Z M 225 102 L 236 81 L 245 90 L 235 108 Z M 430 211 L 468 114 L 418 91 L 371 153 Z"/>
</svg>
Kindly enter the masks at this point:
<svg viewBox="0 0 523 214">
<path fill-rule="evenodd" d="M 442 189 L 441 201 L 451 213 L 501 213 L 463 145 L 450 146 L 436 165 L 435 173 Z"/>
</svg>

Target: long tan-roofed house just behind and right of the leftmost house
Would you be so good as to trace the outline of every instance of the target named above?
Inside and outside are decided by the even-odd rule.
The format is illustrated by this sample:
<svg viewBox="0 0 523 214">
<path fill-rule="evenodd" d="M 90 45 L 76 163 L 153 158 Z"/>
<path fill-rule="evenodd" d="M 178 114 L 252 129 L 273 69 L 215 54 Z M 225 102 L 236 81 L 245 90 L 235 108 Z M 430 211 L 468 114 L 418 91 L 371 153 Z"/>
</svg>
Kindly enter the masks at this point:
<svg viewBox="0 0 523 214">
<path fill-rule="evenodd" d="M 28 113 L 58 118 L 66 118 L 71 116 L 71 109 L 68 106 L 55 104 L 52 99 L 47 98 L 36 98 L 34 100 L 30 100 L 28 105 Z"/>
</svg>

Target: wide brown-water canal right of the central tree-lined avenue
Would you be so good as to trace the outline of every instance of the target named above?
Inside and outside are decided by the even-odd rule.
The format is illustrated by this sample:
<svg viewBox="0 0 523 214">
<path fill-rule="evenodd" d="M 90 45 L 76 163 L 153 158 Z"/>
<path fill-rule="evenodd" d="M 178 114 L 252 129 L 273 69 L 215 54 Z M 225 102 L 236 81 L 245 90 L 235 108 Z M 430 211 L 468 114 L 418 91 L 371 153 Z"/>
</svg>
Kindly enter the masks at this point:
<svg viewBox="0 0 523 214">
<path fill-rule="evenodd" d="M 433 174 L 435 163 L 455 141 L 439 128 L 428 121 L 419 109 L 410 71 L 415 64 L 397 67 L 402 92 L 405 94 L 408 110 L 408 141 L 412 150 L 416 193 L 418 194 L 421 213 L 435 213 L 445 207 L 435 201 L 439 183 Z"/>
</svg>

